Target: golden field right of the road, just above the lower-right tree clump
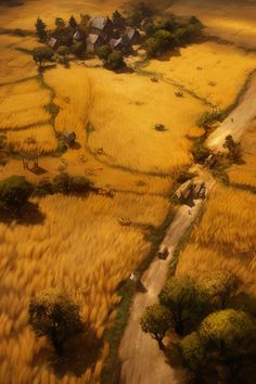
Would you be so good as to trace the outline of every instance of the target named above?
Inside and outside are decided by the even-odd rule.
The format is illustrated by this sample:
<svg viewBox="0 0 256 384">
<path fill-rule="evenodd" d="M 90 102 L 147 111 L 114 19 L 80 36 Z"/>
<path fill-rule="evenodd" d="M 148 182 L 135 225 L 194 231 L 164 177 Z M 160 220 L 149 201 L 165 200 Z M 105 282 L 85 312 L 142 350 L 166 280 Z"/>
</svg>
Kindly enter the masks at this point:
<svg viewBox="0 0 256 384">
<path fill-rule="evenodd" d="M 209 270 L 230 270 L 256 295 L 255 228 L 255 195 L 218 184 L 180 255 L 177 274 L 196 278 Z"/>
</svg>

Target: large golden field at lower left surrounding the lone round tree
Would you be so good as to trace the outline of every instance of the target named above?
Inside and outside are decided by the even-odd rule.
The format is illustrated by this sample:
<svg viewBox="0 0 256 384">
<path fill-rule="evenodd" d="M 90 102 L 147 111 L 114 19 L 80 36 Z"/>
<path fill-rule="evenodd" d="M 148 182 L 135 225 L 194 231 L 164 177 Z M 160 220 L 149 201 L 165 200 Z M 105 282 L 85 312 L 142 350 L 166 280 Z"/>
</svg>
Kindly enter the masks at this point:
<svg viewBox="0 0 256 384">
<path fill-rule="evenodd" d="M 169 203 L 125 193 L 86 200 L 54 195 L 39 203 L 47 214 L 43 225 L 0 225 L 0 382 L 98 383 L 108 354 L 106 344 L 95 368 L 79 379 L 66 374 L 57 380 L 42 357 L 35 359 L 46 341 L 36 340 L 27 327 L 29 298 L 39 290 L 62 286 L 76 297 L 84 319 L 101 337 L 119 302 L 117 284 L 150 248 L 137 225 L 161 225 Z M 117 219 L 127 215 L 135 226 L 120 227 Z"/>
</svg>

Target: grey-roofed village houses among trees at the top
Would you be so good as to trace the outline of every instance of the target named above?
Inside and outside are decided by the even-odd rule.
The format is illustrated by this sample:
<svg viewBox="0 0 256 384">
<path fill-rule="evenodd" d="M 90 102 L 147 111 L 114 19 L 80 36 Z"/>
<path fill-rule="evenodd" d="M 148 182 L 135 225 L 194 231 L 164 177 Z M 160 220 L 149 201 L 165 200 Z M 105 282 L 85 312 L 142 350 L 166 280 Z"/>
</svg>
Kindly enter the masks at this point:
<svg viewBox="0 0 256 384">
<path fill-rule="evenodd" d="M 113 51 L 121 51 L 128 53 L 132 46 L 140 42 L 141 36 L 138 29 L 127 27 L 115 28 L 113 21 L 108 17 L 92 17 L 88 23 L 88 29 L 85 33 L 79 26 L 72 36 L 71 43 L 82 42 L 87 48 L 87 52 L 97 52 L 104 44 L 108 44 Z M 57 49 L 60 39 L 57 36 L 51 36 L 48 44 L 52 49 Z"/>
</svg>

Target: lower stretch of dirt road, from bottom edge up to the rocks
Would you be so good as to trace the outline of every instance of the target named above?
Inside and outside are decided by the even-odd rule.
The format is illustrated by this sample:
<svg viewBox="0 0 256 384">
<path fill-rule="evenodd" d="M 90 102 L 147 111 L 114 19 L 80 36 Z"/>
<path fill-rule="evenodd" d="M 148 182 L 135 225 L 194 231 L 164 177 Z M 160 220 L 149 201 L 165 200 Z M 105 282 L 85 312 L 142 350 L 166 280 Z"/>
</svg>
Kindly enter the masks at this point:
<svg viewBox="0 0 256 384">
<path fill-rule="evenodd" d="M 202 180 L 202 175 L 200 177 Z M 212 188 L 213 179 L 205 174 L 203 180 L 207 188 Z M 142 277 L 145 293 L 135 295 L 130 318 L 120 343 L 119 358 L 121 360 L 121 384 L 183 384 L 184 372 L 180 368 L 170 367 L 159 350 L 157 343 L 142 333 L 140 317 L 148 305 L 157 302 L 168 271 L 168 261 L 180 239 L 197 217 L 203 201 L 194 201 L 193 207 L 179 207 L 175 220 L 170 225 L 163 244 L 169 249 L 166 260 L 155 258 Z"/>
</svg>

